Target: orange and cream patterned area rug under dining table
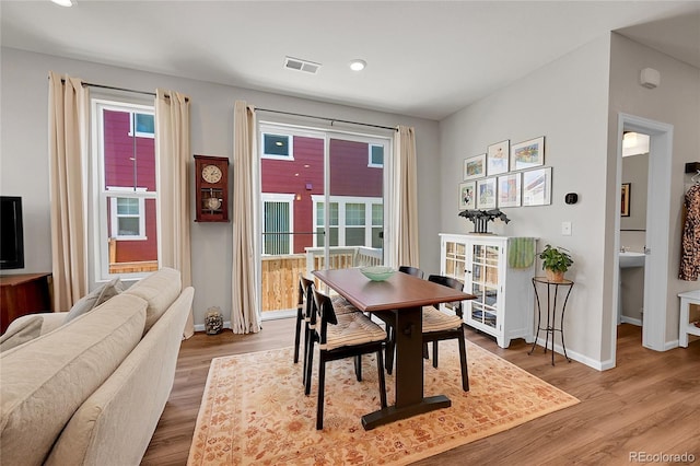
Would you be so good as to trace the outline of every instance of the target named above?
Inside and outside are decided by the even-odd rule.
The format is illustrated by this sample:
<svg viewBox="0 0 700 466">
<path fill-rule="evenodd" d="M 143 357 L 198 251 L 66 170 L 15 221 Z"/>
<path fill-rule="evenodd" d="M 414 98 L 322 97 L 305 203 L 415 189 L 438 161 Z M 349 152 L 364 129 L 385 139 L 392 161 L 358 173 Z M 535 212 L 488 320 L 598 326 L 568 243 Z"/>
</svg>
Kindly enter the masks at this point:
<svg viewBox="0 0 700 466">
<path fill-rule="evenodd" d="M 456 340 L 440 343 L 439 369 L 423 364 L 424 395 L 446 395 L 450 408 L 370 431 L 360 417 L 380 408 L 374 357 L 363 358 L 362 382 L 352 359 L 327 364 L 322 431 L 316 378 L 304 396 L 292 348 L 213 359 L 187 463 L 405 465 L 579 403 L 474 343 L 467 342 L 467 354 L 469 392 L 462 391 Z M 386 388 L 393 404 L 390 375 Z"/>
</svg>

